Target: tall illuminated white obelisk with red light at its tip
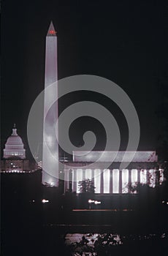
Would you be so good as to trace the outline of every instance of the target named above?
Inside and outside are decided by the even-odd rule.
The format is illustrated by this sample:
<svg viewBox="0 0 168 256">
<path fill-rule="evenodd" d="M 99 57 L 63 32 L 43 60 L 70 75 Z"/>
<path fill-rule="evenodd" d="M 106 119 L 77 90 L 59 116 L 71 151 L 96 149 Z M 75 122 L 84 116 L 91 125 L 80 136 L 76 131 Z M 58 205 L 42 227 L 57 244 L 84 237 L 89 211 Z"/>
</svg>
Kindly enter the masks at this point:
<svg viewBox="0 0 168 256">
<path fill-rule="evenodd" d="M 56 121 L 58 102 L 47 111 L 50 102 L 58 97 L 57 36 L 51 21 L 47 31 L 45 46 L 45 98 L 42 151 L 42 184 L 58 187 L 58 141 L 56 139 Z M 55 83 L 50 91 L 46 89 Z M 55 100 L 54 100 L 55 101 Z M 47 113 L 47 116 L 46 116 Z M 46 117 L 45 117 L 46 116 Z M 57 159 L 57 161 L 56 161 Z"/>
</svg>

